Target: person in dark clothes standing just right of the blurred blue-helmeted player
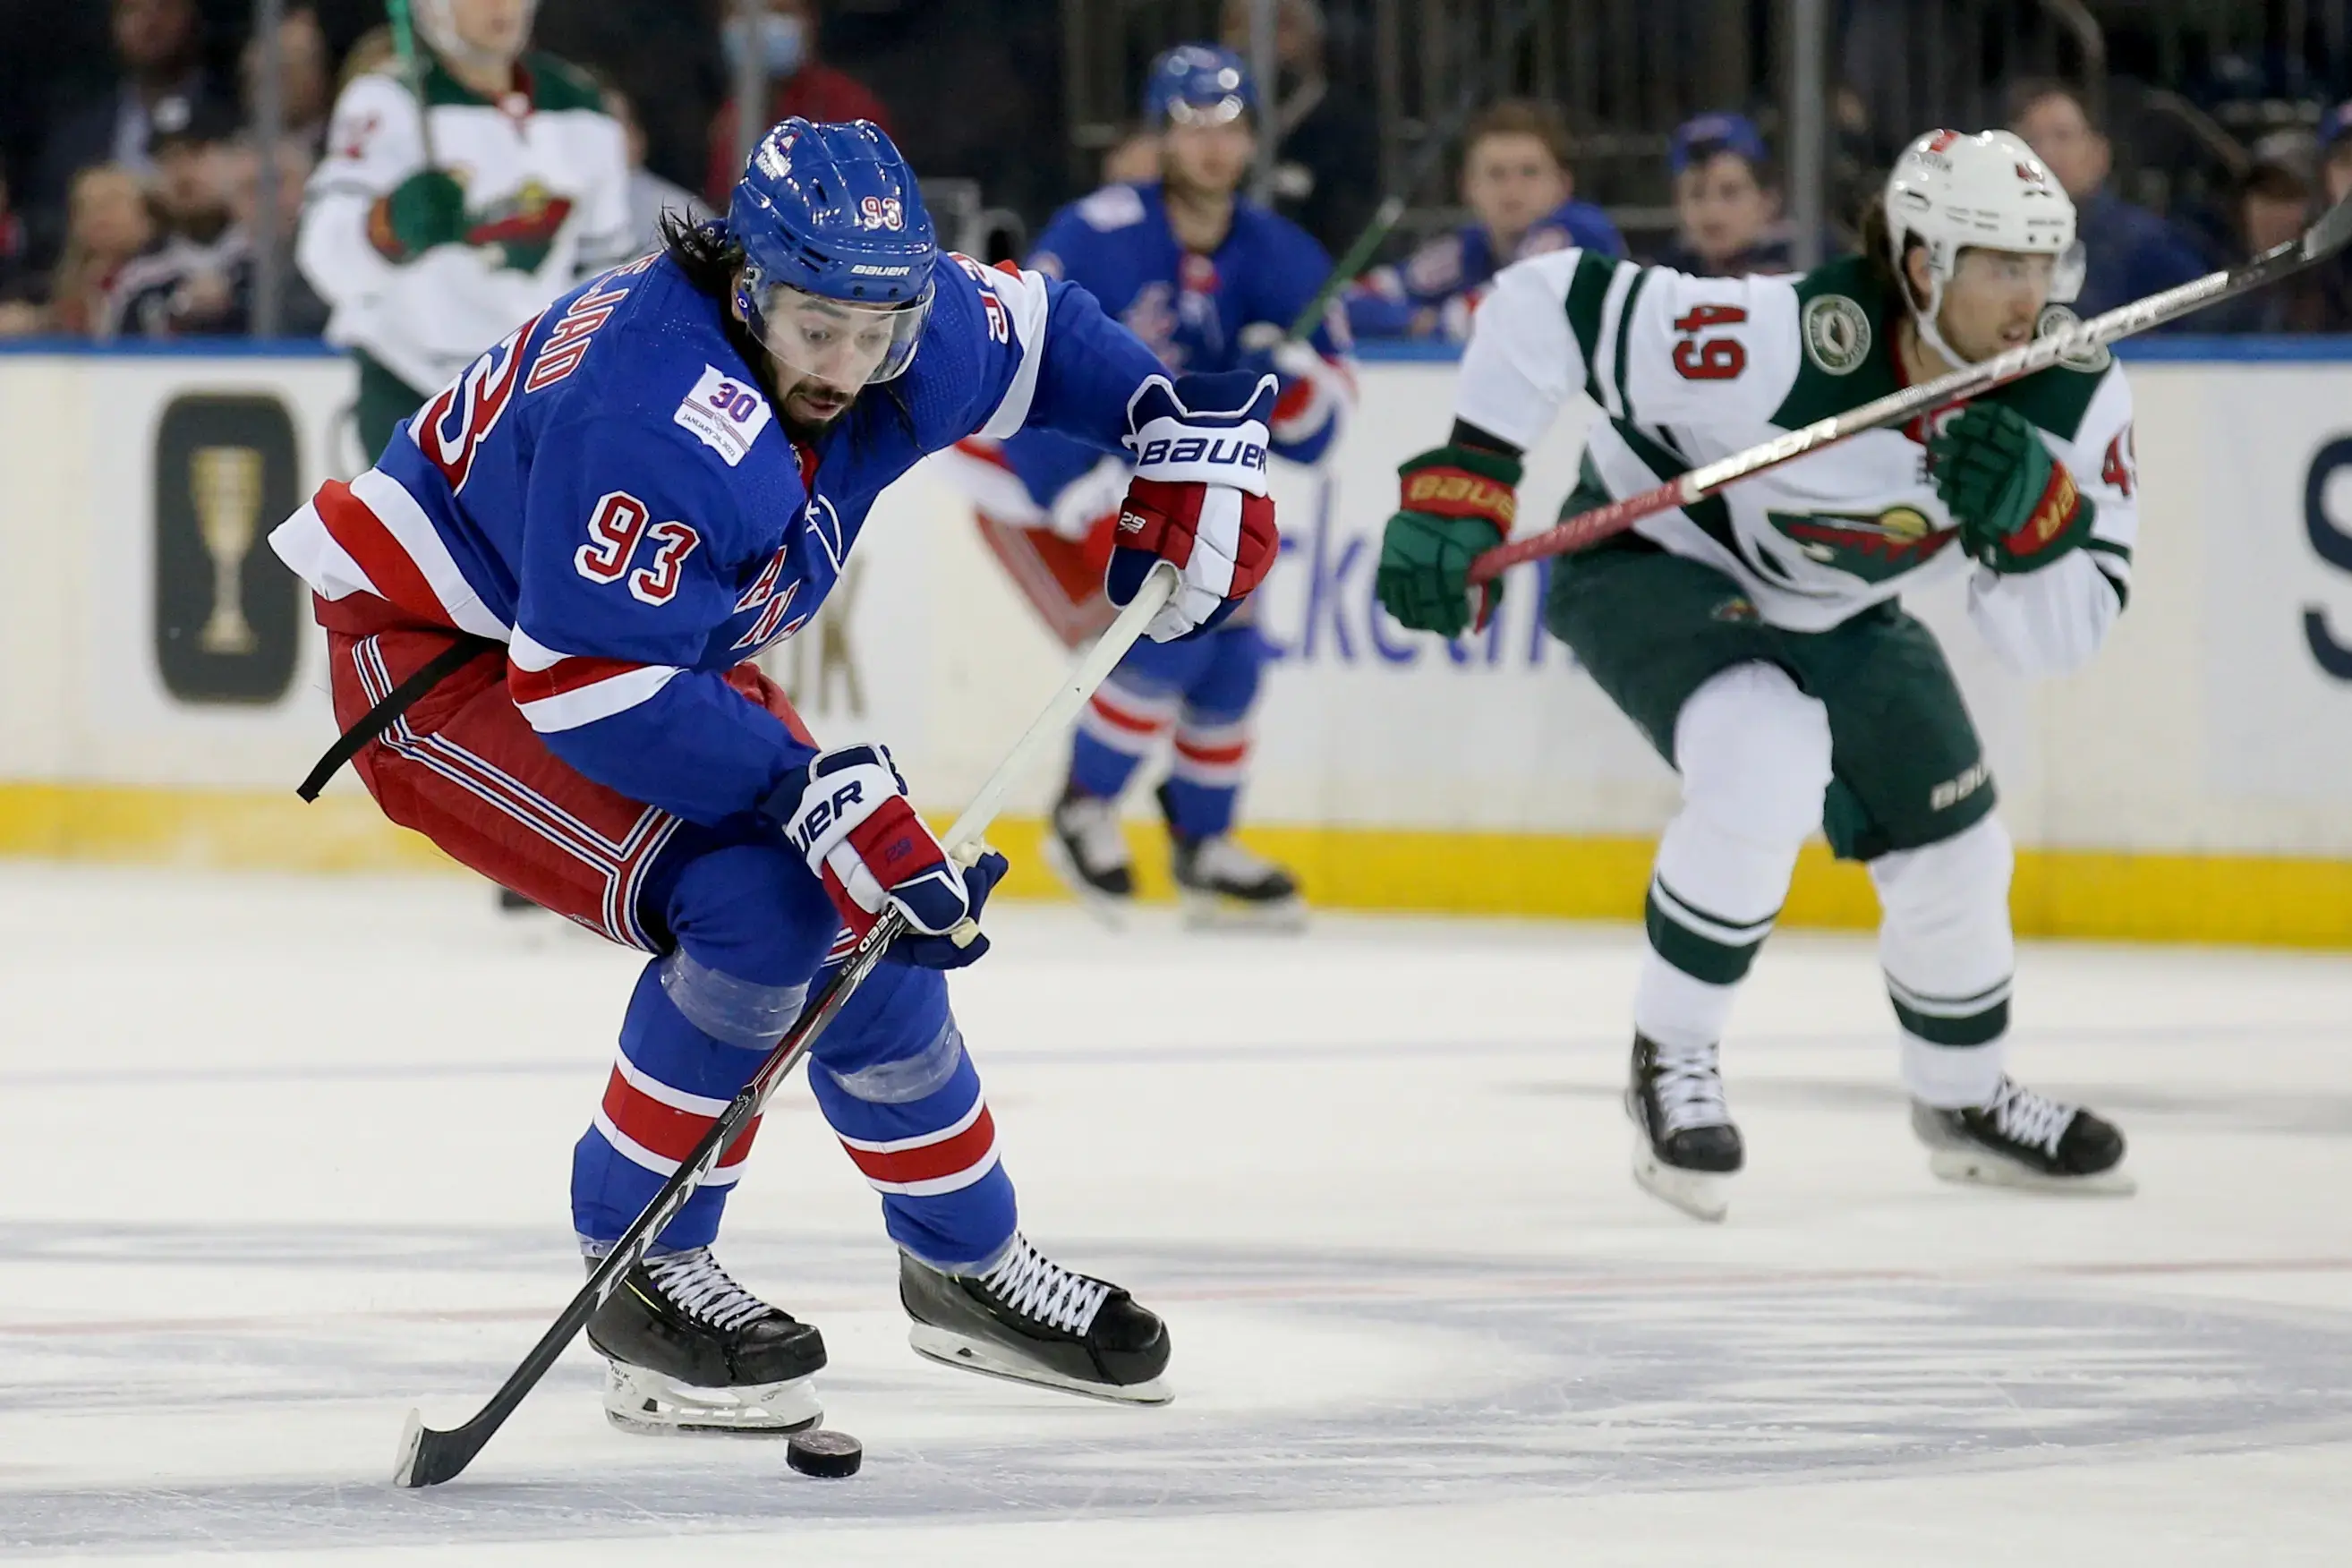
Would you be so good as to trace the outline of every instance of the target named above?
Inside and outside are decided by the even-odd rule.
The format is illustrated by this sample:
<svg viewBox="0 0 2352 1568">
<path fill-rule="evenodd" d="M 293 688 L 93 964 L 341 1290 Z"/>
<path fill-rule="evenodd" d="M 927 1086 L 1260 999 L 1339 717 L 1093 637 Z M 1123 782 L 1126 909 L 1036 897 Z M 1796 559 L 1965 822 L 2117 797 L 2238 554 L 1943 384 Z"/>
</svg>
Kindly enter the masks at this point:
<svg viewBox="0 0 2352 1568">
<path fill-rule="evenodd" d="M 1225 0 L 1223 42 L 1249 59 L 1251 0 Z M 1275 0 L 1272 207 L 1343 256 L 1381 205 L 1381 122 L 1359 99 L 1334 94 L 1317 0 Z M 1263 87 L 1261 87 L 1263 89 Z"/>
</svg>

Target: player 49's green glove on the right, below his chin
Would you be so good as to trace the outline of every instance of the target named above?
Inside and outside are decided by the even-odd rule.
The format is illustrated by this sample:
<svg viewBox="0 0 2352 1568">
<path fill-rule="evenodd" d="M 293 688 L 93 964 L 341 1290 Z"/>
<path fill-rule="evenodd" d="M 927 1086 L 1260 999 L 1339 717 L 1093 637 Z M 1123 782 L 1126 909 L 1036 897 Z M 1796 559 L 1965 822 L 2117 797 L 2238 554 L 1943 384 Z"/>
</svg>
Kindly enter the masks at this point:
<svg viewBox="0 0 2352 1568">
<path fill-rule="evenodd" d="M 2084 543 L 2098 505 L 2016 409 L 1971 402 L 1926 444 L 1959 548 L 1994 571 L 2037 571 Z"/>
</svg>

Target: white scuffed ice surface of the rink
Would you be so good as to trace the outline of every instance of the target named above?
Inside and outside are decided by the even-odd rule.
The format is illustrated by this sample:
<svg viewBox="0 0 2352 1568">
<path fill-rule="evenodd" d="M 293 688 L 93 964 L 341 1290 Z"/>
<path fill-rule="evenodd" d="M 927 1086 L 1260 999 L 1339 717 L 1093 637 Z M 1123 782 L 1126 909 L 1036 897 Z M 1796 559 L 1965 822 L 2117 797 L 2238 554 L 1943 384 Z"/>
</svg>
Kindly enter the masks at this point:
<svg viewBox="0 0 2352 1568">
<path fill-rule="evenodd" d="M 2027 947 L 2016 1067 L 2136 1199 L 1943 1187 L 1870 945 L 1780 933 L 1731 1220 L 1625 1173 L 1635 933 L 993 910 L 957 985 L 1028 1232 L 1169 1316 L 1138 1410 L 906 1349 L 786 1091 L 720 1255 L 818 1321 L 854 1481 L 633 1439 L 576 1349 L 635 959 L 433 879 L 0 867 L 0 1556 L 141 1563 L 2345 1563 L 2352 961 Z M 691 1540 L 687 1540 L 691 1537 Z"/>
</svg>

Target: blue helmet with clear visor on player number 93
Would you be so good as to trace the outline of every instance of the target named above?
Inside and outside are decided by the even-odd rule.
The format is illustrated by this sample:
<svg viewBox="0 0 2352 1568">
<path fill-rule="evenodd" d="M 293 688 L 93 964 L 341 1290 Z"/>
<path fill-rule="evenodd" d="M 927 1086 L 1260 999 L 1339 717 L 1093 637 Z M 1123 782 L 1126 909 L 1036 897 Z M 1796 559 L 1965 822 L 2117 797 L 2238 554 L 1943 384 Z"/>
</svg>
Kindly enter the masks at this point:
<svg viewBox="0 0 2352 1568">
<path fill-rule="evenodd" d="M 774 127 L 736 181 L 727 233 L 743 247 L 736 306 L 781 364 L 854 393 L 915 360 L 938 240 L 882 127 Z"/>
</svg>

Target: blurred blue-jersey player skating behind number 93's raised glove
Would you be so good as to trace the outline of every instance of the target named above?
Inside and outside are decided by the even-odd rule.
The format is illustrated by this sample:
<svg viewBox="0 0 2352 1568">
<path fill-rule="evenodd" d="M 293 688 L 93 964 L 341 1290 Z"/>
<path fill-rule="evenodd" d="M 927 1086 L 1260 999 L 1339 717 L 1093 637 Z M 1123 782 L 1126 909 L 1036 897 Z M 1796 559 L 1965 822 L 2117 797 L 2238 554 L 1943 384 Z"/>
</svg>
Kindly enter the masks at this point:
<svg viewBox="0 0 2352 1568">
<path fill-rule="evenodd" d="M 1160 183 L 1103 186 L 1054 216 L 1030 263 L 1094 292 L 1171 371 L 1272 371 L 1275 456 L 1315 463 L 1355 402 L 1334 308 L 1305 343 L 1284 331 L 1331 259 L 1289 219 L 1237 195 L 1256 150 L 1258 99 L 1240 56 L 1209 45 L 1162 54 L 1143 118 L 1160 132 Z M 964 442 L 948 463 L 981 531 L 1047 623 L 1073 646 L 1110 618 L 1096 583 L 1127 489 L 1124 456 L 1049 430 Z M 1120 797 L 1169 745 L 1160 806 L 1171 870 L 1200 924 L 1296 924 L 1298 886 L 1232 837 L 1249 771 L 1265 639 L 1247 614 L 1183 644 L 1138 644 L 1080 719 L 1047 863 L 1101 912 L 1134 898 Z"/>
</svg>

